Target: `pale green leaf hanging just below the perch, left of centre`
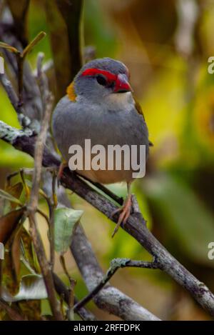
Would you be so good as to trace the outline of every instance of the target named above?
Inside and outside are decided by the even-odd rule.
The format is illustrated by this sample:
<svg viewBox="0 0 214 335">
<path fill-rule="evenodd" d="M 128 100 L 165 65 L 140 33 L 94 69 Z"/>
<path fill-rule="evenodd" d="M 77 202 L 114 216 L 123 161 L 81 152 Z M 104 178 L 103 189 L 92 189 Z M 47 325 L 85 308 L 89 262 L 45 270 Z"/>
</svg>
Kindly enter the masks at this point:
<svg viewBox="0 0 214 335">
<path fill-rule="evenodd" d="M 60 208 L 54 211 L 55 250 L 64 254 L 71 244 L 73 229 L 81 218 L 83 211 Z"/>
</svg>

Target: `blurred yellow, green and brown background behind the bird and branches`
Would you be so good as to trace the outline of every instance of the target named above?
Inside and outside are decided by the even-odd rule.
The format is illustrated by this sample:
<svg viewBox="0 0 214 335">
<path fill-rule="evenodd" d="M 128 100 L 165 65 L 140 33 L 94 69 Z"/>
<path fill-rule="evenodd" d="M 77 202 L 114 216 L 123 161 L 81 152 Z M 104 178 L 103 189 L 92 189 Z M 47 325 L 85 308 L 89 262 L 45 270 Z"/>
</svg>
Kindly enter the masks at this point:
<svg viewBox="0 0 214 335">
<path fill-rule="evenodd" d="M 53 58 L 51 14 L 45 2 L 31 0 L 29 7 L 29 40 L 39 31 L 47 33 L 29 56 L 33 69 L 39 51 L 47 61 Z M 109 56 L 123 61 L 146 117 L 154 146 L 146 177 L 133 184 L 133 193 L 148 227 L 212 291 L 214 260 L 208 259 L 208 244 L 214 241 L 214 74 L 208 74 L 208 58 L 214 56 L 213 16 L 212 0 L 86 0 L 82 25 L 88 59 Z M 60 21 L 57 24 L 60 33 Z M 56 85 L 61 80 L 62 74 Z M 0 101 L 0 119 L 18 127 L 1 86 Z M 1 188 L 7 174 L 30 166 L 29 156 L 0 141 Z M 109 187 L 126 196 L 125 185 Z M 115 257 L 151 259 L 122 229 L 111 239 L 111 221 L 75 194 L 70 198 L 76 209 L 84 210 L 83 228 L 104 271 Z M 46 240 L 43 221 L 40 226 Z M 67 264 L 81 298 L 86 287 L 70 254 Z M 58 261 L 56 271 L 63 272 Z M 161 319 L 210 319 L 161 271 L 121 269 L 111 283 Z M 114 318 L 93 303 L 91 310 L 99 319 Z"/>
</svg>

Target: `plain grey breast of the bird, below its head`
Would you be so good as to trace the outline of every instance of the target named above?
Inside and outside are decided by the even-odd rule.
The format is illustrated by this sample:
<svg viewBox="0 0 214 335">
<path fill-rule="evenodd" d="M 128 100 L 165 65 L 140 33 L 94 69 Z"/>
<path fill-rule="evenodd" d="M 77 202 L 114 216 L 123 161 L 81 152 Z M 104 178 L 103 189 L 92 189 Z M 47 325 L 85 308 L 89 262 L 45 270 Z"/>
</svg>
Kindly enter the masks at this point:
<svg viewBox="0 0 214 335">
<path fill-rule="evenodd" d="M 91 146 L 101 144 L 105 148 L 108 144 L 146 145 L 148 156 L 148 129 L 136 109 L 101 110 L 98 105 L 79 104 L 64 97 L 54 111 L 53 132 L 66 161 L 69 159 L 69 147 L 78 144 L 84 148 L 85 139 L 91 139 Z"/>
</svg>

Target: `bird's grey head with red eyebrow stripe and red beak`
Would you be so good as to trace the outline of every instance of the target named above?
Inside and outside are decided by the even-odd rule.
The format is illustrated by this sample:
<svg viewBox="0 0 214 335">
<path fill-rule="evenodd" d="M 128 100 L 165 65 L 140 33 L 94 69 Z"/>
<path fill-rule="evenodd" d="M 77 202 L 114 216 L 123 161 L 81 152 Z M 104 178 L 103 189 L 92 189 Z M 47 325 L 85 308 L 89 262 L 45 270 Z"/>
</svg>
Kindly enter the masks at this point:
<svg viewBox="0 0 214 335">
<path fill-rule="evenodd" d="M 97 102 L 112 94 L 132 91 L 128 80 L 126 65 L 106 57 L 85 64 L 74 79 L 74 89 L 77 96 Z"/>
</svg>

